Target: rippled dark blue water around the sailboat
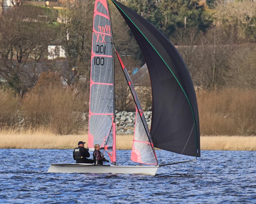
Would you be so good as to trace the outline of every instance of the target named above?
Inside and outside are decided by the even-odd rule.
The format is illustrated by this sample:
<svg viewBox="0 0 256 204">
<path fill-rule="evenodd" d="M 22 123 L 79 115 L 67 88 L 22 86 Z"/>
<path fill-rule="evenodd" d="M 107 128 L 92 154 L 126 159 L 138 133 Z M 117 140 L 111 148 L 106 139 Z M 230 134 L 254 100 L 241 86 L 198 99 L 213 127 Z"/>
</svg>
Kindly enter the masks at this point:
<svg viewBox="0 0 256 204">
<path fill-rule="evenodd" d="M 121 164 L 130 151 L 117 154 Z M 190 159 L 156 154 L 159 163 Z M 0 158 L 0 203 L 256 203 L 255 151 L 202 151 L 156 176 L 47 173 L 51 163 L 73 163 L 72 150 L 0 149 Z"/>
</svg>

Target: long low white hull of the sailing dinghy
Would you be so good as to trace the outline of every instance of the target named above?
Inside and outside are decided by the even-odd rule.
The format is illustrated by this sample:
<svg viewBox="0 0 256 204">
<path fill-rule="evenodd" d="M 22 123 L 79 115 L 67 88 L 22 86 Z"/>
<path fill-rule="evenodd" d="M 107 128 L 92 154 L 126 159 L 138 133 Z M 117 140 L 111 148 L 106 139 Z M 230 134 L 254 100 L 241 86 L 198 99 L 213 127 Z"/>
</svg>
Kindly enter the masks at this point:
<svg viewBox="0 0 256 204">
<path fill-rule="evenodd" d="M 155 175 L 159 166 L 110 166 L 99 164 L 51 164 L 50 173 L 113 173 Z"/>
</svg>

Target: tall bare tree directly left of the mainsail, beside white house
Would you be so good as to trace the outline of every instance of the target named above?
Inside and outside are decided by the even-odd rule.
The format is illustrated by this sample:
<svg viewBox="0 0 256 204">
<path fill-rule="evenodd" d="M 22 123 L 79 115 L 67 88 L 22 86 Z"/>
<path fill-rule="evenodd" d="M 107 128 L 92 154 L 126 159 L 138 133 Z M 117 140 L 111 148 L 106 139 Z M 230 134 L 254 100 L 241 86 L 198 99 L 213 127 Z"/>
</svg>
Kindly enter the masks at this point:
<svg viewBox="0 0 256 204">
<path fill-rule="evenodd" d="M 59 11 L 60 39 L 68 59 L 68 72 L 59 70 L 68 85 L 74 84 L 69 71 L 76 69 L 76 80 L 90 78 L 93 1 L 65 1 Z M 75 81 L 76 81 L 75 80 Z"/>
</svg>

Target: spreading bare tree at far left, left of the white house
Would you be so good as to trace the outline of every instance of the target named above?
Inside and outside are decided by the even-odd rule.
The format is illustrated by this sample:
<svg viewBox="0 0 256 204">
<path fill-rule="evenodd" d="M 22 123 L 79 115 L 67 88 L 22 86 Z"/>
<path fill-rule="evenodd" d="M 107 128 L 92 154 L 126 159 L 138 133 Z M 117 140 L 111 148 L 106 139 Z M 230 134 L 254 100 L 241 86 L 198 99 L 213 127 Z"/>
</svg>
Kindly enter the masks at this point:
<svg viewBox="0 0 256 204">
<path fill-rule="evenodd" d="M 23 95 L 36 81 L 36 65 L 47 56 L 54 34 L 42 10 L 20 6 L 4 13 L 0 21 L 0 77 Z"/>
</svg>

